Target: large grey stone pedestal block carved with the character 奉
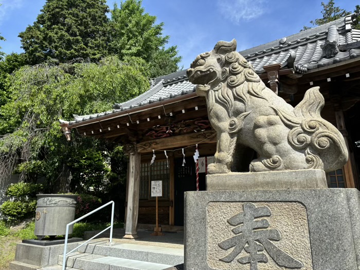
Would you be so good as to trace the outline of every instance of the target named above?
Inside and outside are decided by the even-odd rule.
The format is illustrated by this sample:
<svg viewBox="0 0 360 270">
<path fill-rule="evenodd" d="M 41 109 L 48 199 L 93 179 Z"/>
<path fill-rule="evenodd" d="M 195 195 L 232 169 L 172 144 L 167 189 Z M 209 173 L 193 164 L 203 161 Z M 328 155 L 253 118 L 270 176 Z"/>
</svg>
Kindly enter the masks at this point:
<svg viewBox="0 0 360 270">
<path fill-rule="evenodd" d="M 186 270 L 359 270 L 356 189 L 185 193 Z"/>
</svg>

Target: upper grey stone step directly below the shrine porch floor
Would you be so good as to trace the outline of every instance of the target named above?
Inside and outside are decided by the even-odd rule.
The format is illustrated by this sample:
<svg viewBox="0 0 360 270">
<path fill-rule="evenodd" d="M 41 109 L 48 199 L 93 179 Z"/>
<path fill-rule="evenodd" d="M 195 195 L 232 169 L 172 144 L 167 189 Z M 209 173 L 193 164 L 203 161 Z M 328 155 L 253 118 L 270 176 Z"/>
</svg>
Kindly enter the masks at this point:
<svg viewBox="0 0 360 270">
<path fill-rule="evenodd" d="M 77 251 L 86 254 L 110 256 L 167 265 L 178 265 L 184 263 L 184 248 L 132 243 L 109 244 L 102 241 L 86 244 L 80 247 Z"/>
</svg>

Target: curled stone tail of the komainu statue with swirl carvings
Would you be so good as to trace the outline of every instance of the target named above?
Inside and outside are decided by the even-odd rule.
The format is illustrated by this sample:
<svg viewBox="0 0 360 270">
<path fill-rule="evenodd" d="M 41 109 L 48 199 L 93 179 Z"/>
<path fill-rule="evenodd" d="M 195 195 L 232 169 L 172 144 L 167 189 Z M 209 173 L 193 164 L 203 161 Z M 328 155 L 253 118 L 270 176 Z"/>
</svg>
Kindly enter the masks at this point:
<svg viewBox="0 0 360 270">
<path fill-rule="evenodd" d="M 319 87 L 310 88 L 294 108 L 294 114 L 273 108 L 290 128 L 287 140 L 293 149 L 302 151 L 308 169 L 326 172 L 341 168 L 348 160 L 343 135 L 320 115 L 325 100 Z"/>
</svg>

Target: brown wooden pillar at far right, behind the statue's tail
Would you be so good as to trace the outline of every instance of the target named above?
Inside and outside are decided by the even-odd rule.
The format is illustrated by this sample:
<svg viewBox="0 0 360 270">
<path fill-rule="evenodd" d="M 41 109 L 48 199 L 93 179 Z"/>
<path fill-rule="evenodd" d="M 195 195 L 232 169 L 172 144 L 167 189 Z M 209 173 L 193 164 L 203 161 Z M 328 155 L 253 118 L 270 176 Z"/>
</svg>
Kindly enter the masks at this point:
<svg viewBox="0 0 360 270">
<path fill-rule="evenodd" d="M 336 110 L 337 109 L 337 110 Z M 344 112 L 335 106 L 335 117 L 337 129 L 343 134 L 345 139 L 346 148 L 348 149 L 349 159 L 348 162 L 344 165 L 344 174 L 347 188 L 355 188 L 354 174 L 353 174 L 353 165 L 351 163 L 351 153 L 349 148 L 348 132 L 345 128 Z"/>
</svg>

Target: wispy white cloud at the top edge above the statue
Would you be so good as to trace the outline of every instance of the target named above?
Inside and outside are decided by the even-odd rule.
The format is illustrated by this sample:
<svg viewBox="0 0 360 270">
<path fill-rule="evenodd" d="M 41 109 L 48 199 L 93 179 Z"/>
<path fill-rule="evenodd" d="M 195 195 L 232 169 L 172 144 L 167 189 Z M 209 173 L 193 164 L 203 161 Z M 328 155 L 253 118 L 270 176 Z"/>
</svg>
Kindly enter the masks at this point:
<svg viewBox="0 0 360 270">
<path fill-rule="evenodd" d="M 267 0 L 218 0 L 222 15 L 234 23 L 250 21 L 265 13 Z"/>
</svg>

